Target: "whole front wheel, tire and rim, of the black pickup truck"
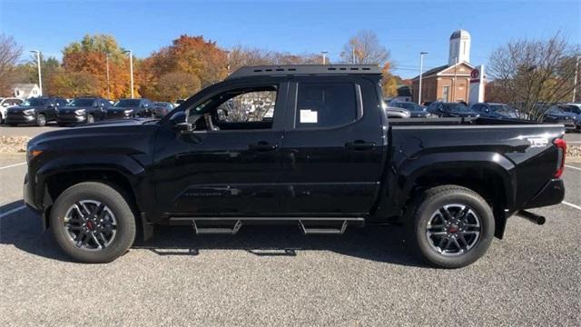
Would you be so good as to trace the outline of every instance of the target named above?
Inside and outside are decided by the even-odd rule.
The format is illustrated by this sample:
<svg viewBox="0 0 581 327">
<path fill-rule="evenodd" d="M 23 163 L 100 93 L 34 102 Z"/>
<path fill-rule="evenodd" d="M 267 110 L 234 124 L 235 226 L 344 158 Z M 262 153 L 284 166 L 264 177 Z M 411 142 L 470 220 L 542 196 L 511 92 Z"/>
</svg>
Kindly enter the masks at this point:
<svg viewBox="0 0 581 327">
<path fill-rule="evenodd" d="M 131 207 L 122 193 L 104 183 L 66 189 L 54 202 L 50 226 L 64 253 L 83 263 L 110 263 L 135 239 Z"/>
</svg>

